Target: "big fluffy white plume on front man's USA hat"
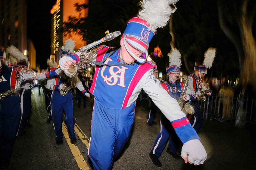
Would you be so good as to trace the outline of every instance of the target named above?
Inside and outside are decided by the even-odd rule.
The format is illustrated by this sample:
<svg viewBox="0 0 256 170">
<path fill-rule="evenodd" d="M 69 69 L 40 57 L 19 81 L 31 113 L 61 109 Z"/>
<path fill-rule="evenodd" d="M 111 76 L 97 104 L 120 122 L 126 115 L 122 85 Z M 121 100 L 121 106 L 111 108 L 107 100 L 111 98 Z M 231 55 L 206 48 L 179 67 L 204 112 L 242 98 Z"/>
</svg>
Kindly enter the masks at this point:
<svg viewBox="0 0 256 170">
<path fill-rule="evenodd" d="M 164 27 L 170 19 L 171 13 L 175 9 L 170 4 L 175 4 L 179 0 L 143 0 L 142 10 L 139 11 L 139 18 L 144 19 L 150 25 L 152 31 Z"/>
</svg>

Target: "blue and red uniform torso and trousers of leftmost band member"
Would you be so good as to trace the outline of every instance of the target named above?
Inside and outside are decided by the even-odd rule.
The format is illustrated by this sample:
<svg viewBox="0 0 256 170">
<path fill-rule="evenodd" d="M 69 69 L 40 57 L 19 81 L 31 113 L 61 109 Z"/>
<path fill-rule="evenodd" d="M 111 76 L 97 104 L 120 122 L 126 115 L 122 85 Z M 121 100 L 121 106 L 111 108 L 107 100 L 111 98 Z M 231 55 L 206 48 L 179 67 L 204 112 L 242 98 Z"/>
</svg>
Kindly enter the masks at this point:
<svg viewBox="0 0 256 170">
<path fill-rule="evenodd" d="M 8 64 L 0 69 L 0 93 L 15 89 L 17 82 L 16 71 L 21 65 Z M 19 93 L 9 96 L 0 101 L 0 157 L 8 159 L 11 157 L 16 131 L 20 121 L 20 96 Z"/>
</svg>

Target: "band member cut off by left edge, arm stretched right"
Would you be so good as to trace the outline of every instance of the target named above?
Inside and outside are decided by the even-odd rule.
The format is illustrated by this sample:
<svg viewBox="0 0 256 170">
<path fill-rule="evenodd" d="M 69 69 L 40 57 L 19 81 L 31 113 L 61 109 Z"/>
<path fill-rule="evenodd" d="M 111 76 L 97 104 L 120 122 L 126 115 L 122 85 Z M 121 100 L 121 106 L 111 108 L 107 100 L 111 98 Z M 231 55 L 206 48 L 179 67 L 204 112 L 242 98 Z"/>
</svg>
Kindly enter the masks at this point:
<svg viewBox="0 0 256 170">
<path fill-rule="evenodd" d="M 8 53 L 10 49 L 8 48 Z M 17 55 L 23 55 L 16 49 Z M 19 96 L 20 81 L 43 79 L 45 74 L 38 75 L 35 72 L 26 71 L 26 67 L 19 64 L 3 64 L 4 48 L 0 49 L 0 165 L 8 166 L 13 151 L 14 139 L 20 123 L 21 106 Z M 54 75 L 54 73 L 47 73 Z M 17 93 L 10 93 L 11 90 Z M 6 95 L 8 94 L 8 95 Z"/>
</svg>

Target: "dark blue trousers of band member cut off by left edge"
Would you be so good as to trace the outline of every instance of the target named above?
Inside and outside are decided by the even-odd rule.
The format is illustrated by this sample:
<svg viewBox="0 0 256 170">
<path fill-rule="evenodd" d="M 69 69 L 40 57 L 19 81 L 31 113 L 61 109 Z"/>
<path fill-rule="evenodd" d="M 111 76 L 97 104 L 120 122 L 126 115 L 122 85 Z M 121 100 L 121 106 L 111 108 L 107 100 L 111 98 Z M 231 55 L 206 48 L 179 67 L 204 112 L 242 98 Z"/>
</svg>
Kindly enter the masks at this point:
<svg viewBox="0 0 256 170">
<path fill-rule="evenodd" d="M 19 94 L 0 101 L 0 157 L 10 158 L 20 121 Z"/>
</svg>

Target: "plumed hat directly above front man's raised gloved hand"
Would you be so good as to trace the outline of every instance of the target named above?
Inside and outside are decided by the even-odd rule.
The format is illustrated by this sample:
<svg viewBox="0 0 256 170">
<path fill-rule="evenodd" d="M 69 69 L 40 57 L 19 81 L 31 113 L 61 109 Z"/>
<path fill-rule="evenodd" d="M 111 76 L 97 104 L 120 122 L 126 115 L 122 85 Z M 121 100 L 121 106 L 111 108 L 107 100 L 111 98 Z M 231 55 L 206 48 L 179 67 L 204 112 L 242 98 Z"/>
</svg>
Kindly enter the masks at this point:
<svg viewBox="0 0 256 170">
<path fill-rule="evenodd" d="M 61 47 L 61 49 L 63 50 L 61 52 L 61 57 L 63 56 L 68 56 L 73 58 L 73 56 L 76 57 L 76 62 L 79 61 L 79 56 L 76 55 L 74 52 L 74 48 L 75 48 L 76 44 L 75 41 L 73 41 L 72 39 L 68 39 L 65 41 L 64 46 Z"/>
</svg>

